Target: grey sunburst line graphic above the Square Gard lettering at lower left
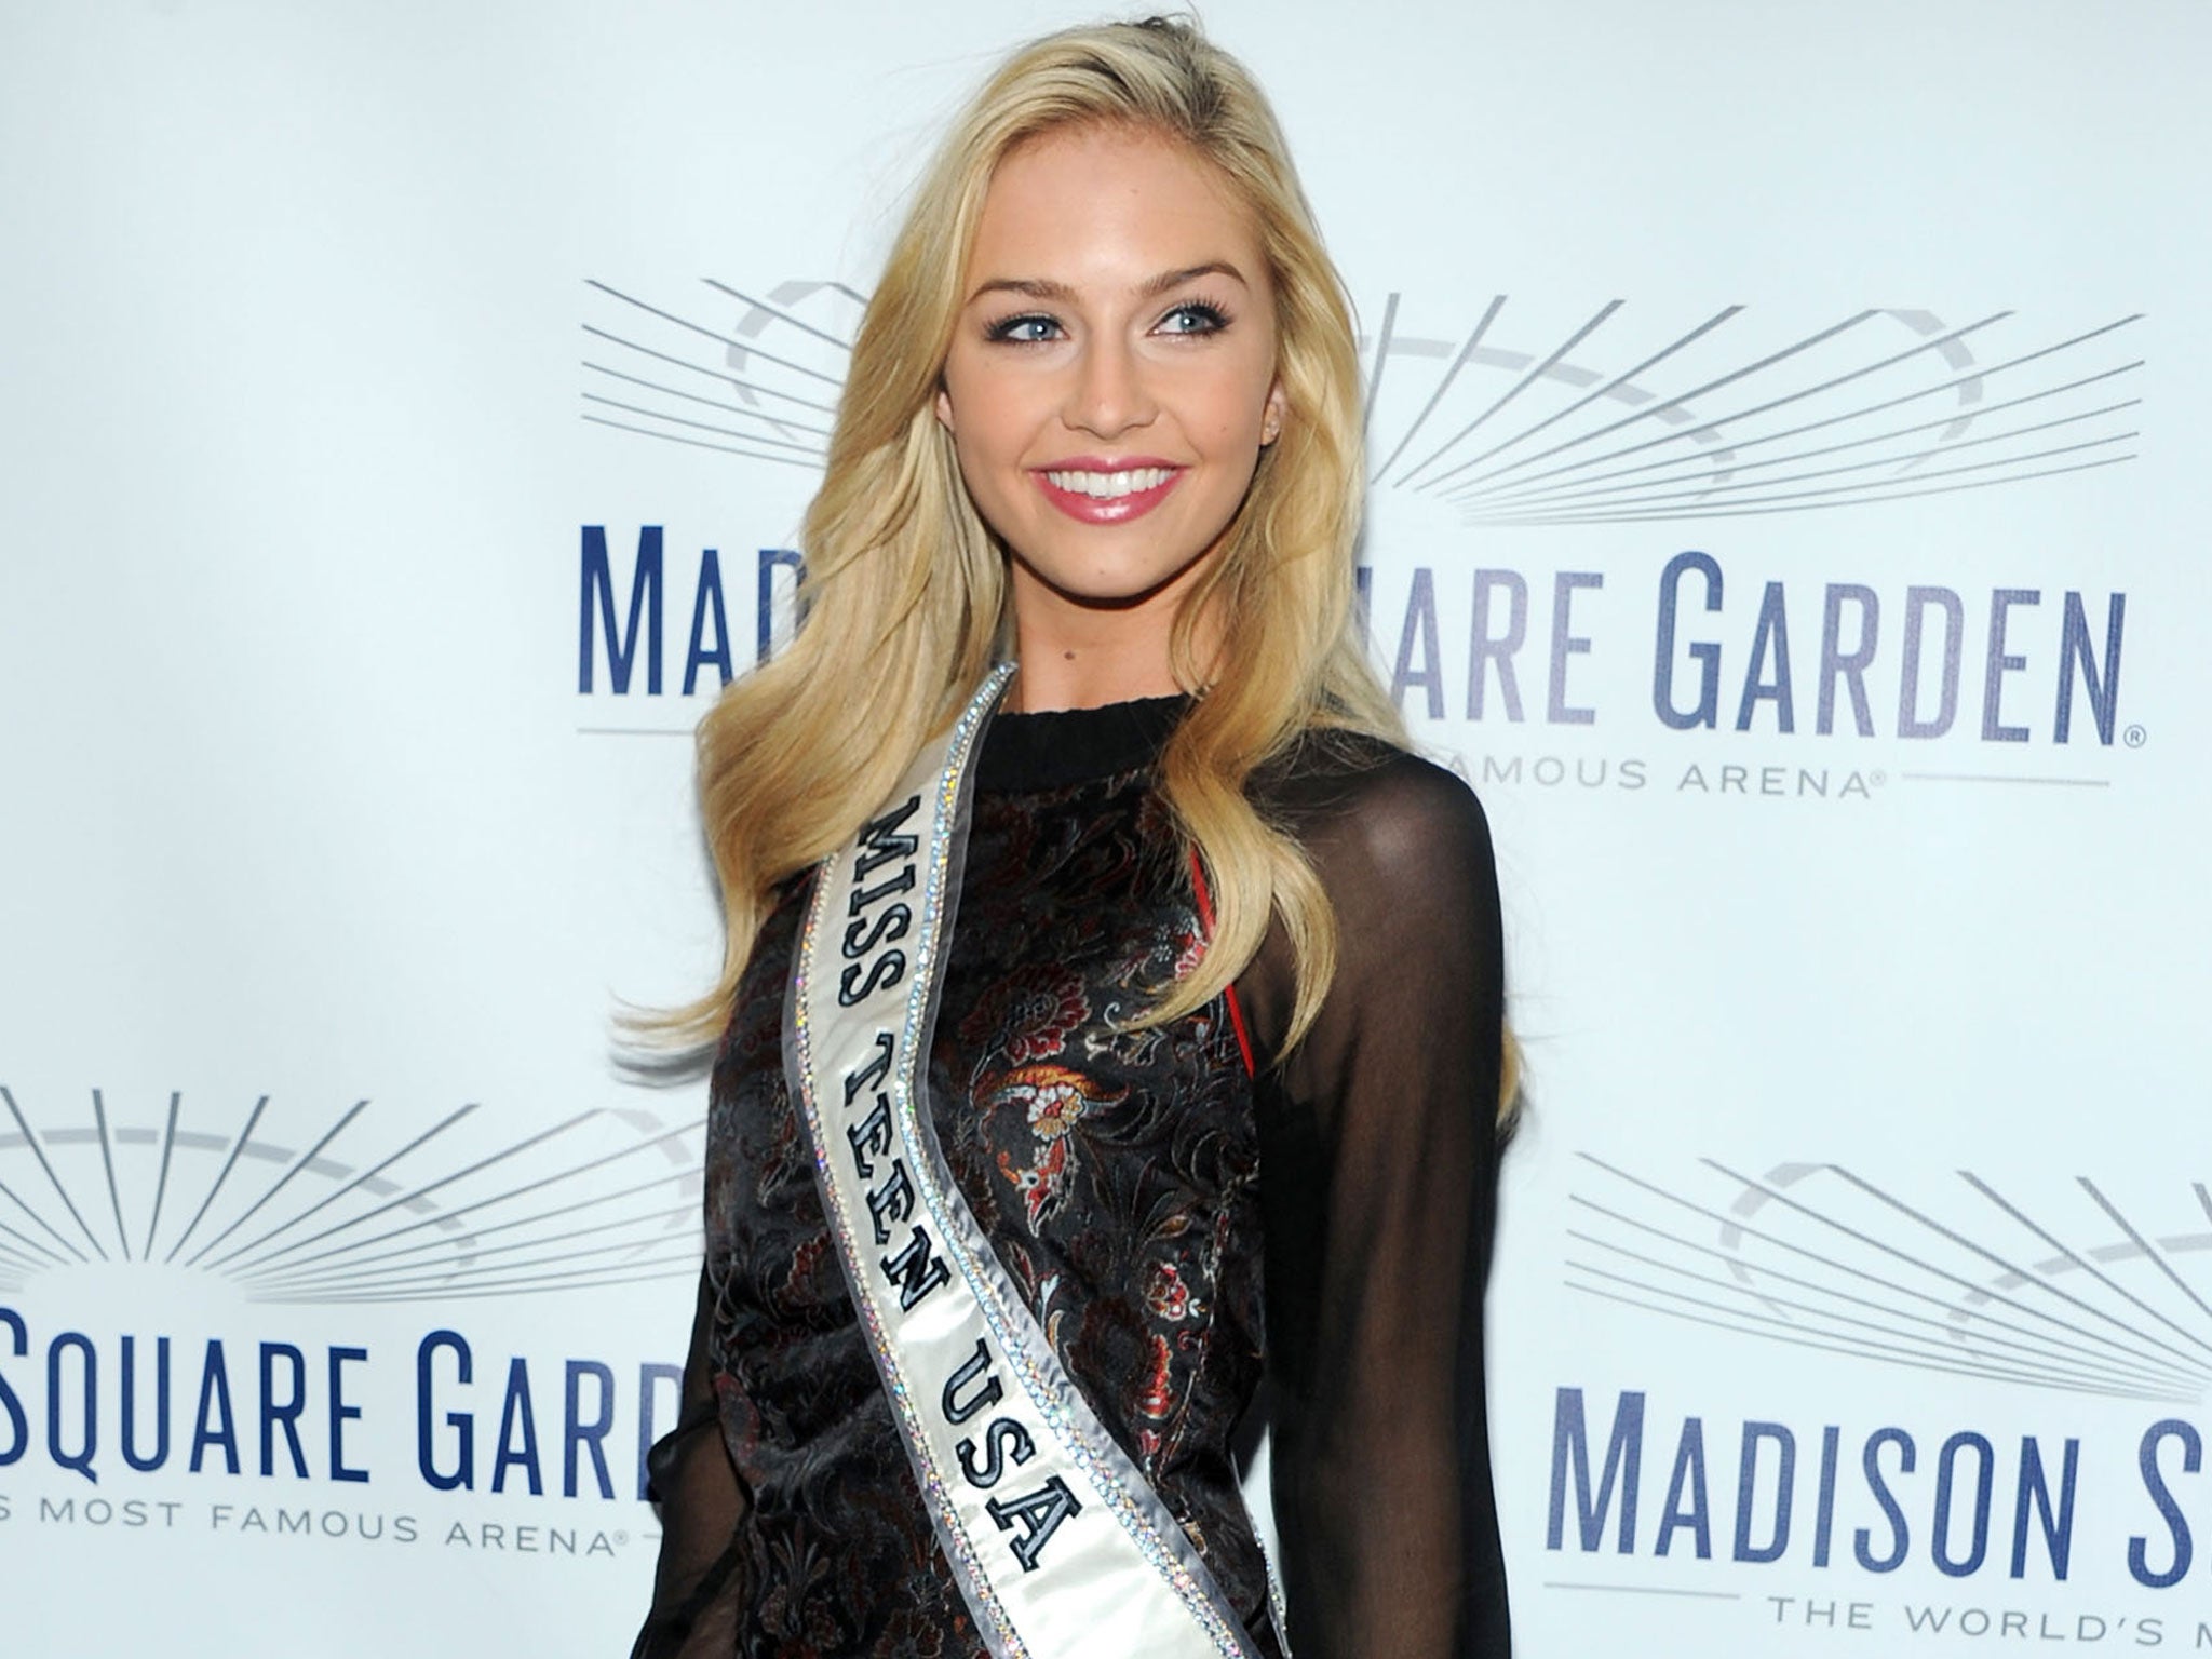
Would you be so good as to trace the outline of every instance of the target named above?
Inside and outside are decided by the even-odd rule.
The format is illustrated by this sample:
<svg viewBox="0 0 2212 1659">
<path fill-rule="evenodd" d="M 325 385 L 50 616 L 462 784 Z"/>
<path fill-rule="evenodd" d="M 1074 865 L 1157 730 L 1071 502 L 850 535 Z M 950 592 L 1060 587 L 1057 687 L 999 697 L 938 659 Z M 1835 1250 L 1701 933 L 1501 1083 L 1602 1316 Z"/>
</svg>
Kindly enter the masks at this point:
<svg viewBox="0 0 2212 1659">
<path fill-rule="evenodd" d="M 703 1119 L 584 1110 L 509 1141 L 476 1110 L 394 1130 L 354 1102 L 274 1133 L 268 1095 L 33 1113 L 0 1086 L 0 1287 L 159 1265 L 248 1301 L 414 1303 L 699 1272 Z"/>
</svg>

